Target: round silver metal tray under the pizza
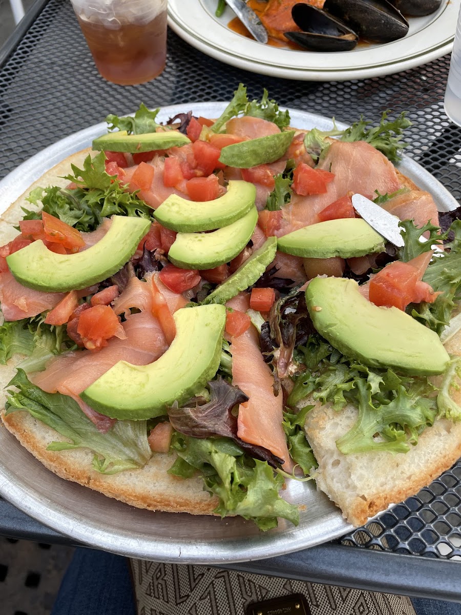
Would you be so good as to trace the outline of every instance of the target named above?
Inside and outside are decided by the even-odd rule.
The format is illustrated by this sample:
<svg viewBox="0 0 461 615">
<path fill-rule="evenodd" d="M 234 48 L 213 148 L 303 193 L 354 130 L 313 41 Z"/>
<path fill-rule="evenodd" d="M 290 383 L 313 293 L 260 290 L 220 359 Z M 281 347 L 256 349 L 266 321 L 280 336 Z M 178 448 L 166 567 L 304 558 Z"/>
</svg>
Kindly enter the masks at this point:
<svg viewBox="0 0 461 615">
<path fill-rule="evenodd" d="M 162 109 L 160 121 L 192 108 L 218 117 L 226 103 L 193 103 Z M 290 109 L 291 125 L 329 130 L 330 119 Z M 345 125 L 340 125 L 345 127 Z M 55 164 L 106 132 L 101 122 L 44 149 L 0 181 L 0 213 Z M 440 211 L 457 207 L 451 194 L 419 164 L 404 157 L 399 169 L 433 195 Z M 66 454 L 63 452 L 62 454 Z M 179 487 L 180 488 L 180 487 Z M 289 480 L 283 496 L 300 507 L 297 528 L 280 520 L 259 532 L 242 518 L 151 512 L 107 498 L 57 477 L 0 427 L 0 494 L 26 514 L 74 541 L 128 557 L 182 563 L 224 564 L 273 557 L 338 538 L 352 529 L 339 509 L 312 482 Z"/>
</svg>

